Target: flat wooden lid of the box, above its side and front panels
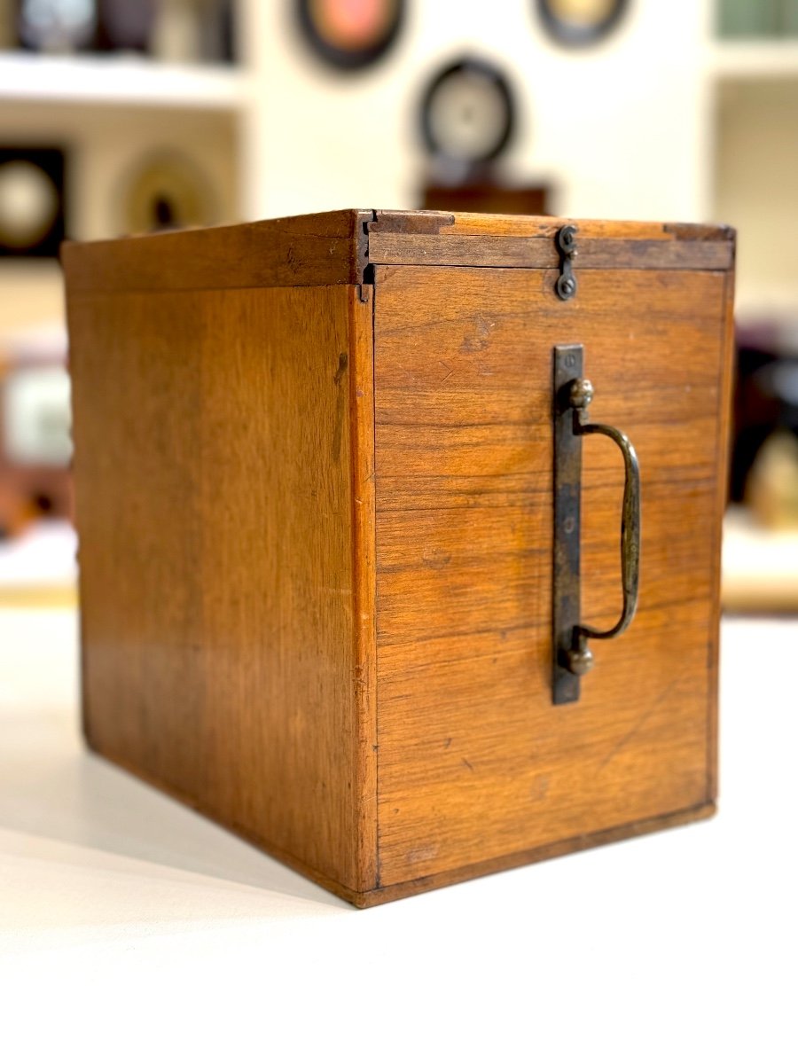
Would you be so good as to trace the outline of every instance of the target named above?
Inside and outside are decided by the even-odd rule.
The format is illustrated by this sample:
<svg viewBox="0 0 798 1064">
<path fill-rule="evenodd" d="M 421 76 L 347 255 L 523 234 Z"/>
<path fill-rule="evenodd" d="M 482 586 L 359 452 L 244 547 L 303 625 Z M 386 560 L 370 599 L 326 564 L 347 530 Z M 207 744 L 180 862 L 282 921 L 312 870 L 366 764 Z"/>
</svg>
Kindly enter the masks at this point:
<svg viewBox="0 0 798 1064">
<path fill-rule="evenodd" d="M 331 211 L 88 244 L 62 259 L 73 292 L 359 284 L 372 265 L 552 268 L 556 234 L 577 232 L 579 269 L 728 269 L 718 226 L 440 211 Z"/>
</svg>

